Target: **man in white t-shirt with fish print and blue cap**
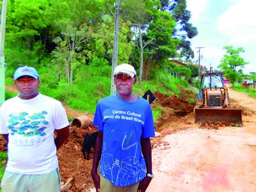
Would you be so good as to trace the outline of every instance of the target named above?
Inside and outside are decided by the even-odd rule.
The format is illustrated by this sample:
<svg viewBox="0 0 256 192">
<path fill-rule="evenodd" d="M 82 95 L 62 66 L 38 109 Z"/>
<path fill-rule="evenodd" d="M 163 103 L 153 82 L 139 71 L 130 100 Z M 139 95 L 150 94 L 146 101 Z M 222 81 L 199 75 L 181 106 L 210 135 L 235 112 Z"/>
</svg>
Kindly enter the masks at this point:
<svg viewBox="0 0 256 192">
<path fill-rule="evenodd" d="M 56 150 L 69 136 L 65 109 L 60 101 L 38 92 L 35 68 L 19 67 L 13 79 L 19 95 L 0 108 L 0 134 L 8 142 L 2 191 L 60 191 Z"/>
</svg>

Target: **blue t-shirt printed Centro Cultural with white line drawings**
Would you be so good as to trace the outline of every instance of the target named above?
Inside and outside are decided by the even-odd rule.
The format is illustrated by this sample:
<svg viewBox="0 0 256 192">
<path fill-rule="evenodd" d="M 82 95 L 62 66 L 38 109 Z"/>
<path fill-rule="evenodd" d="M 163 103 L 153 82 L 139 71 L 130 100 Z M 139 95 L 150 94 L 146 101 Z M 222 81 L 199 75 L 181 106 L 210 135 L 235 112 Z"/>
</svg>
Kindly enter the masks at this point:
<svg viewBox="0 0 256 192">
<path fill-rule="evenodd" d="M 128 102 L 117 95 L 101 99 L 93 125 L 104 132 L 99 171 L 115 186 L 140 182 L 146 176 L 141 138 L 155 136 L 152 110 L 141 97 Z"/>
</svg>

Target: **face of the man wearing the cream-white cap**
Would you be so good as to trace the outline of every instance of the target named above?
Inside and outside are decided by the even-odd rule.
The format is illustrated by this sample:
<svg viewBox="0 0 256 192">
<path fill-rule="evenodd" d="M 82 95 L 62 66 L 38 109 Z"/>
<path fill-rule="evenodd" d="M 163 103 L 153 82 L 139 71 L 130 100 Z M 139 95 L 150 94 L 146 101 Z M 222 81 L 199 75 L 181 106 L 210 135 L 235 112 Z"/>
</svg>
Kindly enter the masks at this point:
<svg viewBox="0 0 256 192">
<path fill-rule="evenodd" d="M 114 77 L 116 90 L 121 95 L 129 95 L 132 93 L 132 87 L 136 83 L 136 76 L 131 77 L 128 74 L 117 74 Z"/>
</svg>

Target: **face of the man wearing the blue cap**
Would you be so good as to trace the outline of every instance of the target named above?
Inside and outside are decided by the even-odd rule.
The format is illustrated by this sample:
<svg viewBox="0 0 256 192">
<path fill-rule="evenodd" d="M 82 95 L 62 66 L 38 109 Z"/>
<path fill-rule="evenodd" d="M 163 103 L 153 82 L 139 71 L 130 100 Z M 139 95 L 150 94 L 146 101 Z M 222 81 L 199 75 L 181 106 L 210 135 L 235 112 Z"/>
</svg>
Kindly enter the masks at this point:
<svg viewBox="0 0 256 192">
<path fill-rule="evenodd" d="M 39 84 L 39 79 L 30 76 L 22 76 L 15 81 L 21 99 L 32 99 L 35 97 L 38 93 Z"/>
</svg>

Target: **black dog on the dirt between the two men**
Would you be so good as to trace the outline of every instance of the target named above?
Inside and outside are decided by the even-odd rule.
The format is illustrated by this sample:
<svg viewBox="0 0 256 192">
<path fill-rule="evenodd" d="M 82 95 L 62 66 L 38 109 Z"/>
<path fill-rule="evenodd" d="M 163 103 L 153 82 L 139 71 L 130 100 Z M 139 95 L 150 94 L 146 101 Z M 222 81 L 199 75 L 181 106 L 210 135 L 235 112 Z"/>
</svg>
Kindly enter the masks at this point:
<svg viewBox="0 0 256 192">
<path fill-rule="evenodd" d="M 91 148 L 95 147 L 97 135 L 98 135 L 98 131 L 93 132 L 92 134 L 88 134 L 88 133 L 84 134 L 84 141 L 83 141 L 83 147 L 82 147 L 84 159 L 87 159 L 87 160 L 89 159 L 89 155 L 90 153 L 92 153 Z M 87 157 L 85 157 L 85 154 L 87 154 Z"/>
</svg>

